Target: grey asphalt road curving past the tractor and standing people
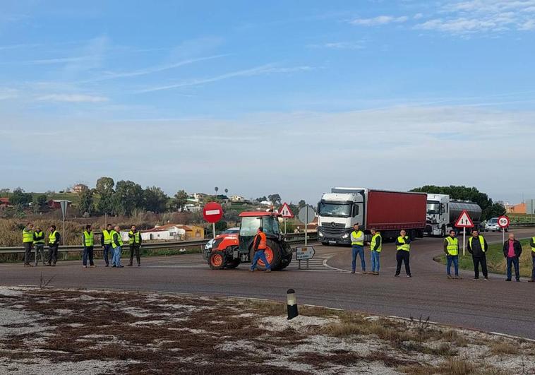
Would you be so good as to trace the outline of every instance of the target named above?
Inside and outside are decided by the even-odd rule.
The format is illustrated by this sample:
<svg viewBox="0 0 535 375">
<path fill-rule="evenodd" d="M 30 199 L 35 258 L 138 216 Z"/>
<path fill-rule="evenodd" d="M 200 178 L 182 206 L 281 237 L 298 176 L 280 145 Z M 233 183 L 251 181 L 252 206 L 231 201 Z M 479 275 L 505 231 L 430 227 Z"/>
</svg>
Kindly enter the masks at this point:
<svg viewBox="0 0 535 375">
<path fill-rule="evenodd" d="M 534 230 L 517 230 L 517 238 L 531 237 Z M 485 234 L 489 242 L 501 234 Z M 248 265 L 236 270 L 210 270 L 200 255 L 142 259 L 141 267 L 82 268 L 66 261 L 55 268 L 23 268 L 22 264 L 0 265 L 1 285 L 40 285 L 69 288 L 113 288 L 121 290 L 186 292 L 203 295 L 256 297 L 285 301 L 294 288 L 298 302 L 371 314 L 414 317 L 452 326 L 507 333 L 535 339 L 535 285 L 505 282 L 503 275 L 490 281 L 472 280 L 473 271 L 461 271 L 463 280 L 447 280 L 445 267 L 433 261 L 442 251 L 442 239 L 413 242 L 412 278 L 394 278 L 395 247 L 385 244 L 380 275 L 351 274 L 351 249 L 315 245 L 317 254 L 310 270 L 298 270 L 297 262 L 287 270 L 249 273 Z M 529 249 L 525 249 L 529 251 Z M 369 267 L 369 253 L 366 254 Z M 358 263 L 359 264 L 359 263 Z M 305 266 L 305 263 L 302 263 Z"/>
</svg>

